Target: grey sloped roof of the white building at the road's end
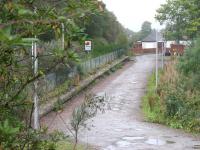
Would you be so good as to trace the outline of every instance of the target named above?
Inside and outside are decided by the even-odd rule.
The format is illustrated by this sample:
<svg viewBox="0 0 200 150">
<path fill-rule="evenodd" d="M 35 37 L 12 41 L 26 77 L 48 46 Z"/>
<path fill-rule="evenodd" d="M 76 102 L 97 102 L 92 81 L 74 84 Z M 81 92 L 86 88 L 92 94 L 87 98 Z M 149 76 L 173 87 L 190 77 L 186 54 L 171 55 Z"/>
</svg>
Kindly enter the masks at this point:
<svg viewBox="0 0 200 150">
<path fill-rule="evenodd" d="M 160 32 L 157 32 L 157 40 L 163 41 L 164 38 Z M 142 40 L 142 42 L 156 42 L 156 30 L 152 30 L 152 32 Z"/>
</svg>

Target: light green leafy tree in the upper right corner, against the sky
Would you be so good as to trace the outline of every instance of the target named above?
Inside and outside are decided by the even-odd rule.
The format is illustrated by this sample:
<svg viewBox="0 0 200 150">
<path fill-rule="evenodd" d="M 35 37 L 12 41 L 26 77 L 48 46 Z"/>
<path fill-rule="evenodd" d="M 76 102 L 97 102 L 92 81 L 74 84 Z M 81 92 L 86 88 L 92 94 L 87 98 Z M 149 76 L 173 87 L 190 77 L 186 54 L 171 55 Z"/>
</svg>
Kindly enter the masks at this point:
<svg viewBox="0 0 200 150">
<path fill-rule="evenodd" d="M 193 38 L 200 28 L 199 0 L 168 0 L 157 10 L 156 19 L 166 23 L 166 36 L 179 42 L 183 37 Z"/>
</svg>

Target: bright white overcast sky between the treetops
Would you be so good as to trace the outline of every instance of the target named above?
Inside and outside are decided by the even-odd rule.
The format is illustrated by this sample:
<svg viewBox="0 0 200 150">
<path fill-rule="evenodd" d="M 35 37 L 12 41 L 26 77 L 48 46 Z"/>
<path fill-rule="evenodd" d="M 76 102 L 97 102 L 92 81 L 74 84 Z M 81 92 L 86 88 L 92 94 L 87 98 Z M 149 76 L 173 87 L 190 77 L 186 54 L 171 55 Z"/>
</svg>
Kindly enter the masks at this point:
<svg viewBox="0 0 200 150">
<path fill-rule="evenodd" d="M 144 21 L 150 21 L 152 28 L 158 28 L 154 16 L 156 9 L 166 0 L 102 0 L 106 8 L 113 12 L 118 21 L 126 28 L 139 31 Z"/>
</svg>

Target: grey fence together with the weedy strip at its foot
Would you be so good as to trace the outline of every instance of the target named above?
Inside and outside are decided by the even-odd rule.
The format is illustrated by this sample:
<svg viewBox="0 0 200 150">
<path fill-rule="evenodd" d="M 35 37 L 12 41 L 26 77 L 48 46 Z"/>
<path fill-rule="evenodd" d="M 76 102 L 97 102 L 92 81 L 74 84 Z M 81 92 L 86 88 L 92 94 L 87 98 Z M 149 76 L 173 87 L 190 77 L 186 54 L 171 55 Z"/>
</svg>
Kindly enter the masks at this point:
<svg viewBox="0 0 200 150">
<path fill-rule="evenodd" d="M 72 67 L 61 67 L 56 69 L 56 71 L 39 79 L 38 96 L 43 98 L 49 95 L 45 100 L 48 101 L 49 97 L 60 95 L 73 88 L 82 76 L 87 76 L 104 65 L 122 57 L 124 54 L 125 50 L 123 49 L 115 50 L 111 53 L 79 62 Z"/>
</svg>

